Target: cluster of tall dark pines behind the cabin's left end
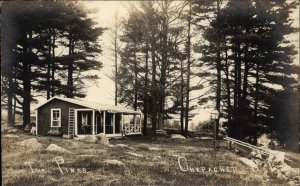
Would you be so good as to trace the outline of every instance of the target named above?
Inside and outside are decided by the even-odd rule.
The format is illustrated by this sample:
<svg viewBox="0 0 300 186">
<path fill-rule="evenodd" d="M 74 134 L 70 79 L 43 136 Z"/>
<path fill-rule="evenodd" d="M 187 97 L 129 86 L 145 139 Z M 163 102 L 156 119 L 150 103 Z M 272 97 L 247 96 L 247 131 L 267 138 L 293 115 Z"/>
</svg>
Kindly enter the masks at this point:
<svg viewBox="0 0 300 186">
<path fill-rule="evenodd" d="M 88 17 L 80 2 L 24 2 L 2 4 L 1 107 L 8 123 L 15 114 L 30 123 L 35 96 L 84 97 L 84 81 L 97 75 L 101 53 L 98 39 L 104 28 Z M 33 94 L 33 92 L 35 94 Z"/>
</svg>

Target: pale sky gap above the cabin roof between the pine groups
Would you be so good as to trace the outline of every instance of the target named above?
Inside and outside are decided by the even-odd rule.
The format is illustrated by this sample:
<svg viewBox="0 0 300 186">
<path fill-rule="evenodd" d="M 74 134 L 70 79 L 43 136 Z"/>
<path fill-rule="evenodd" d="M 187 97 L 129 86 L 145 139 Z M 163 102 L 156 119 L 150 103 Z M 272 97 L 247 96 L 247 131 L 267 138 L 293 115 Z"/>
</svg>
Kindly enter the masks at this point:
<svg viewBox="0 0 300 186">
<path fill-rule="evenodd" d="M 112 28 L 115 24 L 115 14 L 118 12 L 118 17 L 126 16 L 125 7 L 128 2 L 121 1 L 90 1 L 85 2 L 88 8 L 96 8 L 98 12 L 91 15 L 98 26 Z M 111 51 L 111 30 L 104 32 L 101 37 L 101 45 L 103 52 L 100 56 L 100 61 L 103 63 L 103 68 L 99 72 L 100 80 L 98 81 L 99 87 L 92 86 L 88 88 L 86 100 L 95 100 L 100 103 L 114 104 L 114 81 L 109 77 L 112 76 L 114 70 L 114 55 Z"/>
</svg>

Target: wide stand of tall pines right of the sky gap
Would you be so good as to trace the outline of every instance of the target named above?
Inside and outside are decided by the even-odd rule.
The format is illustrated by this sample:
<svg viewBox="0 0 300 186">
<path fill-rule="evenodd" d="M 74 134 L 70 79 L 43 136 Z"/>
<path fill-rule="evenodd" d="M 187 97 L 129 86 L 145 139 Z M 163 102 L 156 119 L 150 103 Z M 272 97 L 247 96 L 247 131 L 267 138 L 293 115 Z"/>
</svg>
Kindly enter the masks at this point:
<svg viewBox="0 0 300 186">
<path fill-rule="evenodd" d="M 150 118 L 152 132 L 180 116 L 183 134 L 197 106 L 212 105 L 229 136 L 275 131 L 295 140 L 299 68 L 297 1 L 150 1 L 132 6 L 123 21 L 119 49 L 119 102 Z M 198 96 L 191 97 L 197 91 Z M 193 104 L 194 100 L 197 104 Z M 295 128 L 296 127 L 296 128 Z M 147 131 L 144 131 L 146 133 Z"/>
</svg>

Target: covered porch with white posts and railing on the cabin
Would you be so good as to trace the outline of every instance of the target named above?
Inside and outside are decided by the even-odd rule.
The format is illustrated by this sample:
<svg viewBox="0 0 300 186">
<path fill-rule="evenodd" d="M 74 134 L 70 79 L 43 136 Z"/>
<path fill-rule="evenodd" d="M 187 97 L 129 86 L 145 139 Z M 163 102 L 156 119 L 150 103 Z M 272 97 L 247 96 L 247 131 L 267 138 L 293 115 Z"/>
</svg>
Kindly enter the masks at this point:
<svg viewBox="0 0 300 186">
<path fill-rule="evenodd" d="M 77 137 L 100 133 L 107 137 L 142 134 L 142 113 L 137 111 L 74 109 L 74 120 L 74 136 Z"/>
</svg>

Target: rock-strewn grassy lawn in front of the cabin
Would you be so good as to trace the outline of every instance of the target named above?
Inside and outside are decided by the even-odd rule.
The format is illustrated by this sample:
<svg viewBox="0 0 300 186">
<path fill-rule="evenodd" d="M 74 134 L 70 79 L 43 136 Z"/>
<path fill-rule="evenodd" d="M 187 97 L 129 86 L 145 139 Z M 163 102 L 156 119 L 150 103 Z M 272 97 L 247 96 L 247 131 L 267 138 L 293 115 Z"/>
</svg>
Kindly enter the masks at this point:
<svg viewBox="0 0 300 186">
<path fill-rule="evenodd" d="M 17 135 L 19 138 L 2 135 L 3 185 L 265 184 L 262 172 L 253 172 L 237 160 L 238 155 L 225 149 L 213 150 L 212 142 L 207 140 L 141 136 L 110 140 L 110 146 L 103 146 L 56 137 Z M 33 137 L 43 144 L 43 150 L 31 151 L 16 144 Z M 51 143 L 72 153 L 46 151 Z M 64 159 L 60 165 L 63 174 L 54 160 L 57 156 Z M 119 160 L 125 165 L 107 164 L 105 160 Z M 25 162 L 33 162 L 34 172 Z"/>
</svg>

